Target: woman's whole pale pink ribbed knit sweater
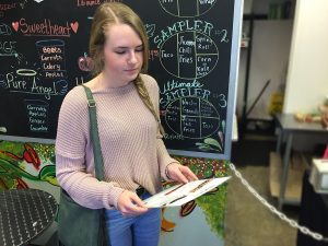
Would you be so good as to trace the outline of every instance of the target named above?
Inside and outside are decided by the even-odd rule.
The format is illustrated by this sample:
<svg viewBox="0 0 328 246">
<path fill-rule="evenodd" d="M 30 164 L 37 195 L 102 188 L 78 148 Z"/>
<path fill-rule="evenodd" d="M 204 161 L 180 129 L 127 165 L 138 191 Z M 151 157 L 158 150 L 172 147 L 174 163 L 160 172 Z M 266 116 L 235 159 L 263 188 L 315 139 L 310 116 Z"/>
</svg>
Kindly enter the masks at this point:
<svg viewBox="0 0 328 246">
<path fill-rule="evenodd" d="M 142 74 L 159 109 L 156 81 Z M 60 186 L 78 203 L 92 209 L 117 208 L 125 190 L 144 187 L 159 192 L 166 166 L 175 162 L 163 143 L 157 122 L 141 101 L 133 83 L 92 91 L 97 108 L 105 181 L 94 176 L 89 108 L 84 89 L 72 89 L 60 108 L 56 139 L 56 174 Z"/>
</svg>

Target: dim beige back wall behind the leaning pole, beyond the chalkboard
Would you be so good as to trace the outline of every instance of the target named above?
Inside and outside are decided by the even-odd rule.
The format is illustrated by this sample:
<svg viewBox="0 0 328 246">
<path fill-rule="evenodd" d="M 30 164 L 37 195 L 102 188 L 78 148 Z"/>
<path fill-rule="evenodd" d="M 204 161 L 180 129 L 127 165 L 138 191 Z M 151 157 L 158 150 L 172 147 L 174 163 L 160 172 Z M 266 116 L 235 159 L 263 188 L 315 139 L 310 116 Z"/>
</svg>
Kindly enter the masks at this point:
<svg viewBox="0 0 328 246">
<path fill-rule="evenodd" d="M 292 20 L 254 22 L 247 110 L 259 96 L 266 82 L 270 80 L 270 83 L 248 118 L 271 119 L 269 114 L 271 96 L 280 93 L 285 84 L 292 27 Z"/>
</svg>

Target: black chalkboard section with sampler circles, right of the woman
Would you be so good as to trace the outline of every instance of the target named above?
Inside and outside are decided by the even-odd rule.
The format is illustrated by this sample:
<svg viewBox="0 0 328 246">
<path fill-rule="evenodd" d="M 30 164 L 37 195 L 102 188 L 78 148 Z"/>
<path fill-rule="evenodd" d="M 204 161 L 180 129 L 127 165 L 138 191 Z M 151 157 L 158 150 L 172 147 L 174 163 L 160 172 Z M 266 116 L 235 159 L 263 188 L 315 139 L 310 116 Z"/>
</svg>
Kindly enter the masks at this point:
<svg viewBox="0 0 328 246">
<path fill-rule="evenodd" d="M 142 17 L 171 153 L 229 159 L 241 1 L 126 0 Z"/>
</svg>

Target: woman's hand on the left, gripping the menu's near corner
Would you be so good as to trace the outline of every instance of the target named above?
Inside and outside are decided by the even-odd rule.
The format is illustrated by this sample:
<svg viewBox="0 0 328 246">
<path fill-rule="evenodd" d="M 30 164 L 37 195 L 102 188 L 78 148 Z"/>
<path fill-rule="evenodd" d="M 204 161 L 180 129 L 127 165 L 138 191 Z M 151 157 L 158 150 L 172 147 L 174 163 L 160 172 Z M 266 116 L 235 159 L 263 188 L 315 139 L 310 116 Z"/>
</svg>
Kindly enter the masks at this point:
<svg viewBox="0 0 328 246">
<path fill-rule="evenodd" d="M 117 209 L 125 216 L 137 216 L 148 211 L 148 208 L 143 201 L 137 196 L 137 194 L 129 190 L 125 190 L 117 201 Z"/>
</svg>

